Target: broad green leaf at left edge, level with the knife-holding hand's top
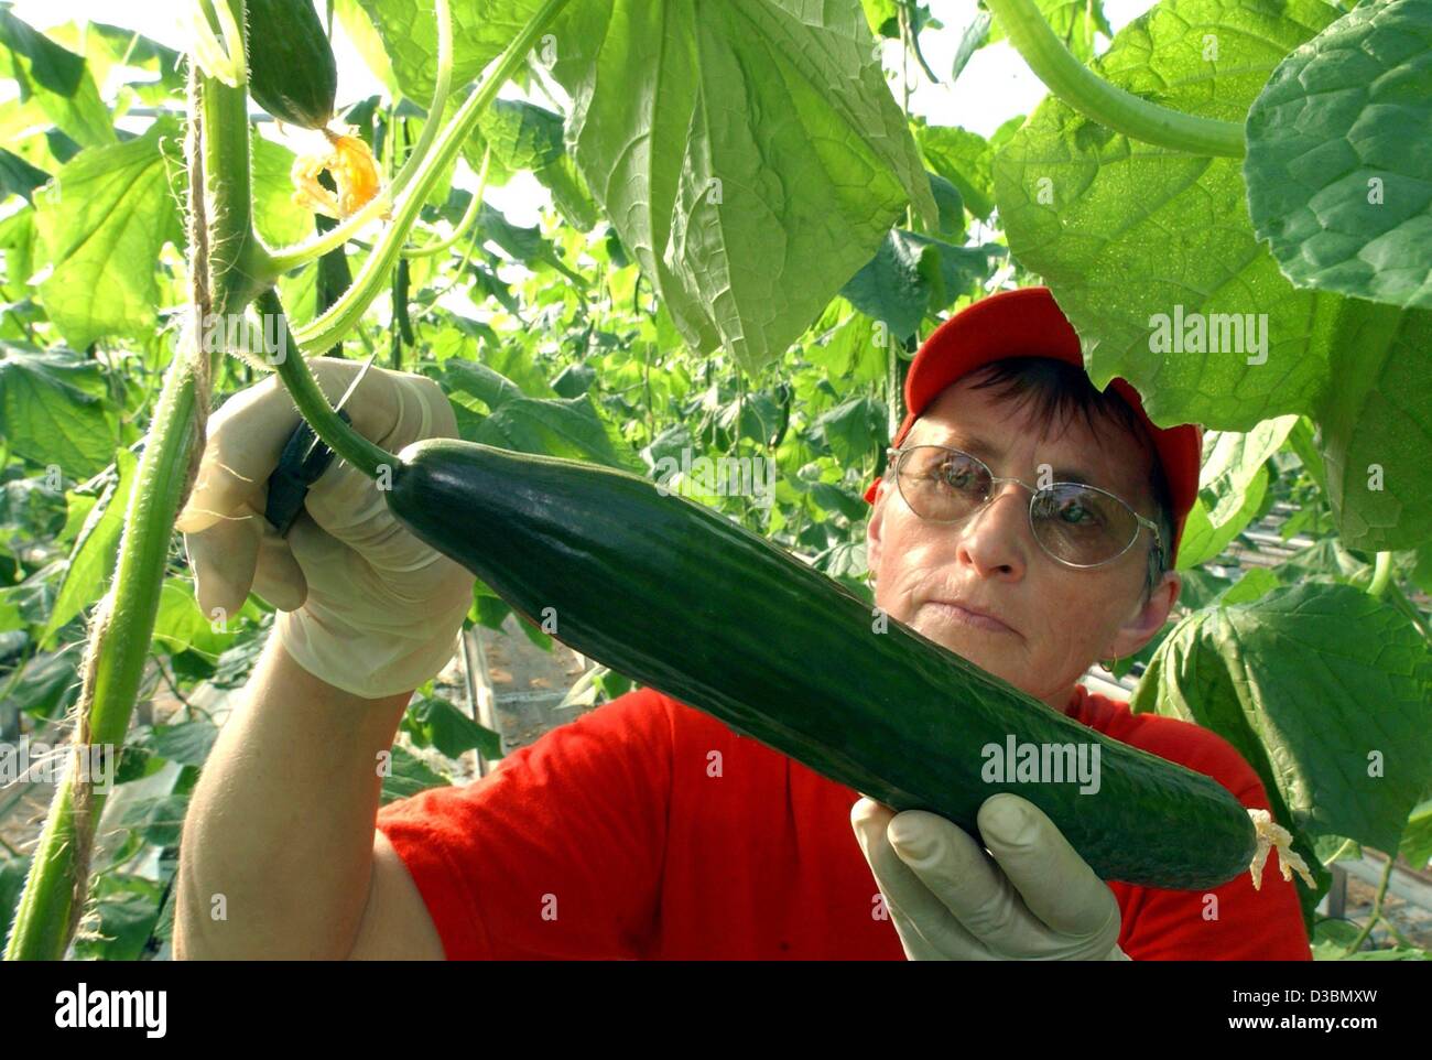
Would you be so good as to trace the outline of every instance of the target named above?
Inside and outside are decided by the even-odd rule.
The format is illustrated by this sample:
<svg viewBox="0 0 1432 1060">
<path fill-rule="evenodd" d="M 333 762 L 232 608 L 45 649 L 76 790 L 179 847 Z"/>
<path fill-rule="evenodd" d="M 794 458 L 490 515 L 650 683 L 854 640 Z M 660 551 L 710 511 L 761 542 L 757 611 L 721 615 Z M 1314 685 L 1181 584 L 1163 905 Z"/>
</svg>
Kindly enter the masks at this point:
<svg viewBox="0 0 1432 1060">
<path fill-rule="evenodd" d="M 97 361 L 0 344 L 0 437 L 37 464 L 89 478 L 115 458 L 116 425 Z"/>
</svg>

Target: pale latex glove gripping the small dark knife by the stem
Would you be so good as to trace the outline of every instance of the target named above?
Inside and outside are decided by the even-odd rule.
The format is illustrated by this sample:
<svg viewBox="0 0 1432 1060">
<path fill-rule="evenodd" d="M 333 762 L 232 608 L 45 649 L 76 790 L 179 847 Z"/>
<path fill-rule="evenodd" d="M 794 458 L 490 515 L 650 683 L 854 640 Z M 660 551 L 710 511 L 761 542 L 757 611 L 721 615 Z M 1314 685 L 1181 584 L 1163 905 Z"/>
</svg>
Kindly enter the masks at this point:
<svg viewBox="0 0 1432 1060">
<path fill-rule="evenodd" d="M 362 365 L 319 357 L 309 367 L 337 401 Z M 457 437 L 453 407 L 422 375 L 374 365 L 344 410 L 390 453 Z M 209 417 L 203 463 L 178 521 L 199 606 L 211 619 L 229 616 L 252 589 L 278 609 L 274 635 L 309 673 L 368 699 L 414 689 L 453 657 L 473 574 L 408 533 L 378 486 L 338 457 L 279 537 L 263 519 L 268 477 L 298 421 L 272 375 Z"/>
</svg>

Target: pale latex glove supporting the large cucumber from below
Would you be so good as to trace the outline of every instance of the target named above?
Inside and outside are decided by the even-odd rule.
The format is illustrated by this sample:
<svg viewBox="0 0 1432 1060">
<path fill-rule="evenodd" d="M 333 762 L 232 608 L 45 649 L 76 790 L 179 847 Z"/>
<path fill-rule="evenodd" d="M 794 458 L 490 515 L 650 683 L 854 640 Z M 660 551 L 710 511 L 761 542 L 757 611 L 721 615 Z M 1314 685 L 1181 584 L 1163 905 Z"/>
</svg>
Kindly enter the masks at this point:
<svg viewBox="0 0 1432 1060">
<path fill-rule="evenodd" d="M 938 814 L 851 808 L 909 960 L 1128 960 L 1114 892 L 1038 806 L 1002 792 L 977 819 L 994 858 Z"/>
</svg>

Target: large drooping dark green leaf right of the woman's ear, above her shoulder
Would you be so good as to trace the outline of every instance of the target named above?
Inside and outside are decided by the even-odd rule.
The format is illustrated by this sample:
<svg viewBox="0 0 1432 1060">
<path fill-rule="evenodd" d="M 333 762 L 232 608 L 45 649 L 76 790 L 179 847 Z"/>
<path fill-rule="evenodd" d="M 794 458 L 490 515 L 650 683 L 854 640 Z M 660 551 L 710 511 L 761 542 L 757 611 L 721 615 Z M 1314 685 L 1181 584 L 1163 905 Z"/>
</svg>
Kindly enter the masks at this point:
<svg viewBox="0 0 1432 1060">
<path fill-rule="evenodd" d="M 1309 835 L 1395 851 L 1432 782 L 1432 655 L 1402 615 L 1350 586 L 1191 615 L 1133 703 L 1227 739 L 1290 812 L 1280 822 Z"/>
</svg>

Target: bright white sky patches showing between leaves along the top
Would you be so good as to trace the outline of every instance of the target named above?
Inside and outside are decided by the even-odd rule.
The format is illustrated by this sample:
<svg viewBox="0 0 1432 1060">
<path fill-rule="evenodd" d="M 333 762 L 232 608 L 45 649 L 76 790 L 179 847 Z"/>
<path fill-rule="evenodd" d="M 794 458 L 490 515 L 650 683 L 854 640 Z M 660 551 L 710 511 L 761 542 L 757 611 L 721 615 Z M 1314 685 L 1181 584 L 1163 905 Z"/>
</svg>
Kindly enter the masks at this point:
<svg viewBox="0 0 1432 1060">
<path fill-rule="evenodd" d="M 183 3 L 186 0 L 126 4 L 116 4 L 113 0 L 16 0 L 11 10 L 37 29 L 93 19 L 139 30 L 162 44 L 183 50 L 185 34 L 176 17 Z M 929 83 L 919 66 L 911 60 L 908 69 L 915 86 L 911 95 L 914 113 L 924 116 L 931 125 L 959 125 L 988 136 L 1010 117 L 1025 115 L 1038 105 L 1045 95 L 1044 86 L 1004 42 L 979 49 L 959 74 L 958 83 L 951 86 L 949 64 L 965 26 L 975 17 L 975 0 L 928 0 L 928 6 L 945 26 L 922 33 L 921 50 L 944 83 Z M 1116 32 L 1151 6 L 1153 0 L 1104 0 L 1106 16 Z M 898 42 L 885 42 L 886 70 L 899 69 L 899 52 Z M 337 24 L 334 54 L 338 60 L 339 107 L 382 90 L 381 83 L 368 72 Z M 899 92 L 898 85 L 898 80 L 892 83 L 892 92 Z M 105 86 L 100 86 L 100 92 L 105 92 Z M 521 97 L 513 86 L 507 86 L 501 95 Z M 534 102 L 551 106 L 541 97 Z M 263 132 L 274 139 L 282 139 L 272 126 L 266 126 Z M 285 142 L 299 152 L 312 149 L 298 140 Z M 465 165 L 463 169 L 465 170 Z M 475 179 L 470 172 L 463 172 L 454 183 L 471 189 Z M 504 188 L 490 188 L 484 199 L 501 209 L 513 223 L 528 228 L 538 223 L 540 209 L 548 202 L 546 191 L 528 173 L 518 175 Z"/>
</svg>

